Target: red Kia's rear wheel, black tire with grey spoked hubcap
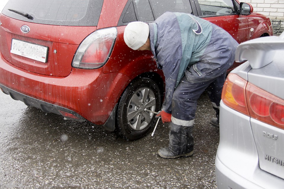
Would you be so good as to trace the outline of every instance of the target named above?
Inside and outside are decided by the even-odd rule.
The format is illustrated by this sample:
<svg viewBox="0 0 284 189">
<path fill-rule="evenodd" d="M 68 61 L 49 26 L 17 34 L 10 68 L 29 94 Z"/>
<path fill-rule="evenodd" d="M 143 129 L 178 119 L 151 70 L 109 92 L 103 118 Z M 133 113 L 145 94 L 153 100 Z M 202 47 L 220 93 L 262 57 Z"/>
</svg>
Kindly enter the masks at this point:
<svg viewBox="0 0 284 189">
<path fill-rule="evenodd" d="M 115 132 L 126 140 L 140 139 L 151 131 L 155 120 L 155 114 L 145 108 L 157 112 L 160 107 L 160 89 L 152 79 L 132 81 L 118 103 Z"/>
</svg>

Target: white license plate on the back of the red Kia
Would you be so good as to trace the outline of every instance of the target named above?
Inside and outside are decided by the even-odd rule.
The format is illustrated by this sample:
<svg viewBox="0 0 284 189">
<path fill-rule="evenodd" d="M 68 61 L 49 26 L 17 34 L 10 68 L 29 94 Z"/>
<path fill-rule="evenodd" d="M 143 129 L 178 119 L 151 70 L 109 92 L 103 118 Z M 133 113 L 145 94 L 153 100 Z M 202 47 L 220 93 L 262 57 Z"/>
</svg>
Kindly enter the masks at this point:
<svg viewBox="0 0 284 189">
<path fill-rule="evenodd" d="M 48 47 L 12 39 L 11 53 L 33 60 L 47 62 Z"/>
</svg>

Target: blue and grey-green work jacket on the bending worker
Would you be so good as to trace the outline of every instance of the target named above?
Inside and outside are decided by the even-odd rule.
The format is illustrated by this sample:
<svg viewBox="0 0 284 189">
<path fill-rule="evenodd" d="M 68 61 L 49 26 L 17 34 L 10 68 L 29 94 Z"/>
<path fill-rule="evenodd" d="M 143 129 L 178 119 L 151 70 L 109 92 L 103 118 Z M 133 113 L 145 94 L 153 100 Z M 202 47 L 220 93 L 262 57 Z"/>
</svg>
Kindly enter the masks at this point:
<svg viewBox="0 0 284 189">
<path fill-rule="evenodd" d="M 155 22 L 149 23 L 149 28 L 151 51 L 158 68 L 162 67 L 165 76 L 166 91 L 162 110 L 167 113 L 172 111 L 175 87 L 178 86 L 189 66 L 202 59 L 206 59 L 203 60 L 205 63 L 210 63 L 210 58 L 219 62 L 213 60 L 216 59 L 214 56 L 218 56 L 214 54 L 218 48 L 234 50 L 227 47 L 232 42 L 234 46 L 238 44 L 225 30 L 191 14 L 166 12 Z M 212 31 L 216 34 L 212 34 Z M 224 38 L 231 39 L 224 44 Z M 206 56 L 208 54 L 210 55 Z M 222 67 L 221 64 L 226 63 L 224 61 L 218 66 Z M 229 64 L 225 66 L 225 70 L 219 70 L 220 74 L 217 73 L 217 76 L 224 73 L 233 62 Z"/>
</svg>

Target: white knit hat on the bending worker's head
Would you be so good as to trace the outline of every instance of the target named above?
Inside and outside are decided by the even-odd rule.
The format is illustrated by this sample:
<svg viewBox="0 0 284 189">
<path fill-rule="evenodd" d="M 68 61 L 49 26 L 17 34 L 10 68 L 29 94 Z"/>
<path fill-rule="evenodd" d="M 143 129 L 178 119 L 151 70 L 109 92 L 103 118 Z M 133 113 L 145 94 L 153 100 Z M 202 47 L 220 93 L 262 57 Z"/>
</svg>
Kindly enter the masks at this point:
<svg viewBox="0 0 284 189">
<path fill-rule="evenodd" d="M 149 36 L 149 25 L 144 22 L 130 22 L 124 30 L 124 41 L 133 50 L 142 47 Z"/>
</svg>

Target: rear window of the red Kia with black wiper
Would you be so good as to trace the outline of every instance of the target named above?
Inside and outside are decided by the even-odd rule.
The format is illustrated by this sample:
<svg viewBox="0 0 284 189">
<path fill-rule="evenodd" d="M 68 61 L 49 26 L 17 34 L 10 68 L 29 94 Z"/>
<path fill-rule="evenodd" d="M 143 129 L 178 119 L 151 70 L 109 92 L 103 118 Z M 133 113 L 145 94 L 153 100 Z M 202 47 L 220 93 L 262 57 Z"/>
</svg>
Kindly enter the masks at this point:
<svg viewBox="0 0 284 189">
<path fill-rule="evenodd" d="M 10 0 L 2 13 L 48 25 L 97 26 L 103 0 Z"/>
</svg>

